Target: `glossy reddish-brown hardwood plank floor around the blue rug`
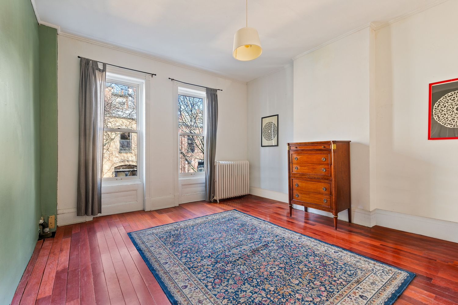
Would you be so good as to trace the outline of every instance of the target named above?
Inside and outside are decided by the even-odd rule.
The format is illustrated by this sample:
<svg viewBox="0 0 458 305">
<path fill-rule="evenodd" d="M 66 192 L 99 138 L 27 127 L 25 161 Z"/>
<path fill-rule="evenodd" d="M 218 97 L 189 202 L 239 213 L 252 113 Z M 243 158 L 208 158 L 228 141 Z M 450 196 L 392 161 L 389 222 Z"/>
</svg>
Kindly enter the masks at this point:
<svg viewBox="0 0 458 305">
<path fill-rule="evenodd" d="M 170 304 L 132 245 L 127 232 L 229 209 L 416 273 L 396 301 L 405 304 L 458 304 L 458 244 L 380 226 L 349 225 L 252 195 L 222 203 L 94 218 L 57 228 L 38 241 L 12 304 Z"/>
</svg>

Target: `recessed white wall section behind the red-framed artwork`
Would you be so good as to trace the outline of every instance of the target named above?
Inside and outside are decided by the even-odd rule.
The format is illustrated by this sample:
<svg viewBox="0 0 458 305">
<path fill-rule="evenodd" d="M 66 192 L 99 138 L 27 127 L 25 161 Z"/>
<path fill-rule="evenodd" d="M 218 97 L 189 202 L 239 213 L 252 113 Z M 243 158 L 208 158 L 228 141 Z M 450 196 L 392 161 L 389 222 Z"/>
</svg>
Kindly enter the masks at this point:
<svg viewBox="0 0 458 305">
<path fill-rule="evenodd" d="M 458 1 L 376 31 L 377 209 L 458 222 L 458 140 L 428 140 L 428 84 L 458 77 Z"/>
</svg>

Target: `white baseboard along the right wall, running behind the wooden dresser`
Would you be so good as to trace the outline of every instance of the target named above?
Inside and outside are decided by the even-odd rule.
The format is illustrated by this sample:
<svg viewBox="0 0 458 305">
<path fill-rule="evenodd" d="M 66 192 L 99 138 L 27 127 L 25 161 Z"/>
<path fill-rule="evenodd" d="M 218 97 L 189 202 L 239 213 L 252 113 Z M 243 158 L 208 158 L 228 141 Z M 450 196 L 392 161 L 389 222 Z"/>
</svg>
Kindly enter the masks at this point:
<svg viewBox="0 0 458 305">
<path fill-rule="evenodd" d="M 250 187 L 250 194 L 285 203 L 288 202 L 288 194 L 270 191 L 259 187 Z M 302 211 L 304 210 L 303 206 L 296 204 L 293 204 L 293 208 L 300 209 Z M 308 209 L 308 211 L 328 217 L 333 216 L 331 213 L 317 209 Z M 364 225 L 367 227 L 380 225 L 382 227 L 430 236 L 445 241 L 458 242 L 458 223 L 456 222 L 402 214 L 382 209 L 368 211 L 352 207 L 351 212 L 352 222 L 358 225 Z M 340 220 L 348 221 L 347 211 L 340 212 L 338 216 Z"/>
</svg>

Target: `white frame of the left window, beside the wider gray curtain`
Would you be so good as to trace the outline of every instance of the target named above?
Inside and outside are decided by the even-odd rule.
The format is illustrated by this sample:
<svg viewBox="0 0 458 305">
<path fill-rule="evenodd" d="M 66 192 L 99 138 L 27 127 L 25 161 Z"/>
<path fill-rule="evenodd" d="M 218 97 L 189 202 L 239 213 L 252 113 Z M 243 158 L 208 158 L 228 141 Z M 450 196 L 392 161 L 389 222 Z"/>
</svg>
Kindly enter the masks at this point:
<svg viewBox="0 0 458 305">
<path fill-rule="evenodd" d="M 106 83 L 116 83 L 126 86 L 136 87 L 136 128 L 137 129 L 126 129 L 126 128 L 104 128 L 104 131 L 114 132 L 126 132 L 137 134 L 137 176 L 131 177 L 107 177 L 102 178 L 102 187 L 123 185 L 123 184 L 134 184 L 143 182 L 143 169 L 144 169 L 144 153 L 143 153 L 143 142 L 144 142 L 144 117 L 145 117 L 145 80 L 140 78 L 131 77 L 127 75 L 121 75 L 118 73 L 107 72 Z"/>
</svg>

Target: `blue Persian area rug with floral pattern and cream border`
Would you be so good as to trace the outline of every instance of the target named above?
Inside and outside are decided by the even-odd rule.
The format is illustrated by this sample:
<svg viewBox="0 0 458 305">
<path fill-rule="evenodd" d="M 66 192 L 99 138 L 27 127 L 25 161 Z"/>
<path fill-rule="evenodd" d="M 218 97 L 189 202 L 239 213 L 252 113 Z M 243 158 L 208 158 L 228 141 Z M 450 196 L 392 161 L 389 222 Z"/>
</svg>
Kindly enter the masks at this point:
<svg viewBox="0 0 458 305">
<path fill-rule="evenodd" d="M 415 274 L 237 210 L 129 233 L 172 304 L 393 304 Z"/>
</svg>

